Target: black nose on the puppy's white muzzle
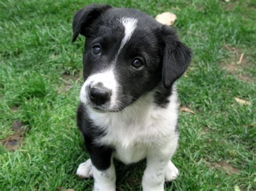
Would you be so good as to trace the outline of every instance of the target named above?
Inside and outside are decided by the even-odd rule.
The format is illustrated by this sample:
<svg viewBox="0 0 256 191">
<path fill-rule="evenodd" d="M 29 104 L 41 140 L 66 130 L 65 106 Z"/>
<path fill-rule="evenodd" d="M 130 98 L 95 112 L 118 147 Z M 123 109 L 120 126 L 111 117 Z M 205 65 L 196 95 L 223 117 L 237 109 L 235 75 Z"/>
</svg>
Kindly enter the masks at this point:
<svg viewBox="0 0 256 191">
<path fill-rule="evenodd" d="M 111 93 L 107 89 L 91 88 L 90 99 L 96 105 L 102 105 L 110 100 Z"/>
</svg>

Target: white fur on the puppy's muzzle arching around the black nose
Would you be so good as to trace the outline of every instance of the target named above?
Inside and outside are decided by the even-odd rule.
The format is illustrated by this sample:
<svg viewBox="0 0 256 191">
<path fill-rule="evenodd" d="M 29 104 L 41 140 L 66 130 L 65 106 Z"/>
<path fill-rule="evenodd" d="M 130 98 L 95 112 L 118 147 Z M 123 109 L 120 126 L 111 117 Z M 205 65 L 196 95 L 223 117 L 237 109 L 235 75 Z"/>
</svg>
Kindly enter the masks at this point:
<svg viewBox="0 0 256 191">
<path fill-rule="evenodd" d="M 97 73 L 89 76 L 81 88 L 80 101 L 85 105 L 88 104 L 89 98 L 88 98 L 88 92 L 86 91 L 86 88 L 89 85 L 93 87 L 94 84 L 97 84 L 99 82 L 103 83 L 103 86 L 105 88 L 112 90 L 112 96 L 110 100 L 110 109 L 112 109 L 114 106 L 116 106 L 117 89 L 118 89 L 117 87 L 118 84 L 114 77 L 113 69 L 109 69 L 101 73 Z"/>
</svg>

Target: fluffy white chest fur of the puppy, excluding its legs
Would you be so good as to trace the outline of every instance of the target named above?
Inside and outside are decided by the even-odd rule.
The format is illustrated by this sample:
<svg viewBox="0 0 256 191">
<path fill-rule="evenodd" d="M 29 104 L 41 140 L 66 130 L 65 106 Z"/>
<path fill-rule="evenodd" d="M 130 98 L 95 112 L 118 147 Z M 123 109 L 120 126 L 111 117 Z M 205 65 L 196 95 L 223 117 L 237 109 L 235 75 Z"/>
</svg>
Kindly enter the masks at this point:
<svg viewBox="0 0 256 191">
<path fill-rule="evenodd" d="M 169 99 L 166 108 L 154 104 L 152 94 L 148 94 L 122 112 L 89 111 L 93 124 L 104 132 L 95 143 L 113 147 L 113 156 L 126 164 L 145 158 L 148 148 L 165 152 L 163 145 L 178 136 L 176 92 Z"/>
</svg>

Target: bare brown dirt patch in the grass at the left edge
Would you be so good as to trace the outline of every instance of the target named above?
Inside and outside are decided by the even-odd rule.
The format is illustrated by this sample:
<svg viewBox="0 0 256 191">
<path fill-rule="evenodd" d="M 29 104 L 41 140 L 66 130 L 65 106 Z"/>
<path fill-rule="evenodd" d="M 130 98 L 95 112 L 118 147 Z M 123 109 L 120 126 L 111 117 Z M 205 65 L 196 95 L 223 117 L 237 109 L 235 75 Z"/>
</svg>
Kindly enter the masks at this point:
<svg viewBox="0 0 256 191">
<path fill-rule="evenodd" d="M 12 130 L 16 132 L 14 135 L 0 140 L 0 143 L 2 143 L 8 151 L 15 151 L 22 146 L 24 133 L 28 131 L 29 128 L 22 122 L 15 121 L 12 123 Z"/>
</svg>

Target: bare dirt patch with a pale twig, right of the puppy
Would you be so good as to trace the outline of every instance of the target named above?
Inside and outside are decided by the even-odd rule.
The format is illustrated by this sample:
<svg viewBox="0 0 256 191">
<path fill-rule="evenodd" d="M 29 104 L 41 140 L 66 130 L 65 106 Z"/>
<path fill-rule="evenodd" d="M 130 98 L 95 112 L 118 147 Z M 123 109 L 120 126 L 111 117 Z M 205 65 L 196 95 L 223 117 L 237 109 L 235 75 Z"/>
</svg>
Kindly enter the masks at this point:
<svg viewBox="0 0 256 191">
<path fill-rule="evenodd" d="M 231 58 L 221 63 L 221 66 L 239 80 L 256 83 L 256 77 L 251 77 L 245 68 L 252 68 L 253 63 L 249 61 L 248 55 L 242 53 L 238 48 L 224 44 L 224 48 L 230 53 Z"/>
</svg>

